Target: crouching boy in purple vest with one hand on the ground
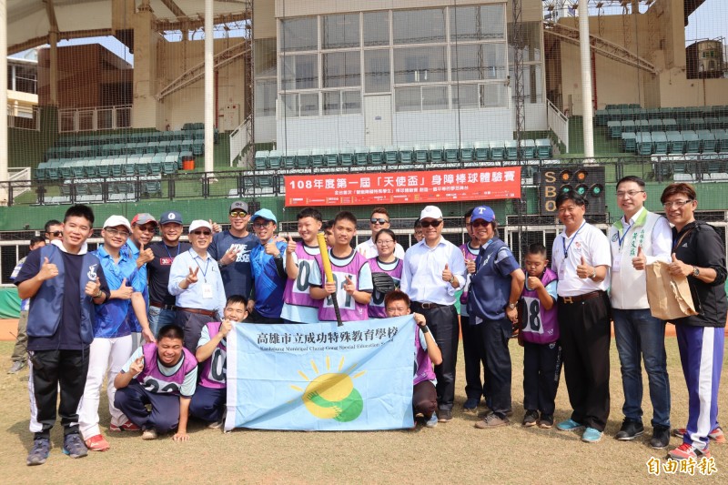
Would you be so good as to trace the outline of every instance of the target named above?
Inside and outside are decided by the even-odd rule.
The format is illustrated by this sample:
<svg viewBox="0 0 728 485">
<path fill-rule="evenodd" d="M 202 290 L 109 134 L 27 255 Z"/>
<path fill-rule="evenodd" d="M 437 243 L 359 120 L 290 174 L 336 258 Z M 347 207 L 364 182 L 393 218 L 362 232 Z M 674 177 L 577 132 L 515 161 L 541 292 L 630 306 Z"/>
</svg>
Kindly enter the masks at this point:
<svg viewBox="0 0 728 485">
<path fill-rule="evenodd" d="M 187 418 L 197 383 L 197 359 L 184 348 L 184 341 L 182 328 L 165 325 L 157 343 L 136 349 L 114 379 L 114 405 L 142 429 L 142 440 L 156 440 L 158 433 L 172 429 L 177 429 L 174 440 L 189 439 Z"/>
</svg>

